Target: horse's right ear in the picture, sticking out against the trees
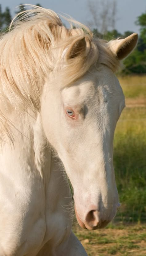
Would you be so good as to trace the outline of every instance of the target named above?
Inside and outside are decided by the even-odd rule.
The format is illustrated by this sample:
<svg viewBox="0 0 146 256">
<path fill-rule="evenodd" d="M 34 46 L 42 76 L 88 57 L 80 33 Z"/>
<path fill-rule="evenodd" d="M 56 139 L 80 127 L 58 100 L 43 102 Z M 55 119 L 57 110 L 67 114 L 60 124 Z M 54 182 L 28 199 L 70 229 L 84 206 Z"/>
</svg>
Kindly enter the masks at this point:
<svg viewBox="0 0 146 256">
<path fill-rule="evenodd" d="M 138 41 L 138 34 L 133 33 L 132 35 L 119 40 L 112 40 L 108 42 L 110 50 L 116 55 L 119 60 L 127 57 L 132 50 L 135 48 Z"/>
</svg>

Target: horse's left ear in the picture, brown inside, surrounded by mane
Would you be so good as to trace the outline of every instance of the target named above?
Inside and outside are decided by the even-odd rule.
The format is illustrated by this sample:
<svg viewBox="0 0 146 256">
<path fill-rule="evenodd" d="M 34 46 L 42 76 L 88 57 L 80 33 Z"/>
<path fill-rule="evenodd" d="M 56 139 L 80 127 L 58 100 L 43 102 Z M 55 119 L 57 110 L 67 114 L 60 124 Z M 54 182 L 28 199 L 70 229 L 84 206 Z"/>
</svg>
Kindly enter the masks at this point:
<svg viewBox="0 0 146 256">
<path fill-rule="evenodd" d="M 83 54 L 86 51 L 86 40 L 83 36 L 80 39 L 76 39 L 72 42 L 72 44 L 69 46 L 66 52 L 66 60 L 69 60 L 71 58 L 75 58 L 81 54 Z"/>
</svg>

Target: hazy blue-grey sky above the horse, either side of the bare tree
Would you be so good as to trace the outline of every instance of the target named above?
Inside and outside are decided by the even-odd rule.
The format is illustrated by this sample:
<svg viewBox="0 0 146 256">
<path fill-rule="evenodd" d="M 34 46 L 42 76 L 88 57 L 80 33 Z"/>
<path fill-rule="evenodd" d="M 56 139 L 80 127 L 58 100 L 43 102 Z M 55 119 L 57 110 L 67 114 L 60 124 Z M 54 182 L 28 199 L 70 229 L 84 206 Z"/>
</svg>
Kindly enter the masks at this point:
<svg viewBox="0 0 146 256">
<path fill-rule="evenodd" d="M 88 25 L 91 14 L 87 6 L 88 0 L 1 0 L 2 11 L 8 6 L 11 14 L 14 15 L 15 7 L 19 4 L 41 4 L 44 8 L 55 12 L 71 15 L 75 20 Z M 96 0 L 95 0 L 96 1 Z M 104 1 L 104 0 L 103 0 Z M 133 31 L 139 33 L 139 27 L 135 25 L 136 18 L 146 12 L 146 0 L 117 0 L 116 29 Z"/>
</svg>

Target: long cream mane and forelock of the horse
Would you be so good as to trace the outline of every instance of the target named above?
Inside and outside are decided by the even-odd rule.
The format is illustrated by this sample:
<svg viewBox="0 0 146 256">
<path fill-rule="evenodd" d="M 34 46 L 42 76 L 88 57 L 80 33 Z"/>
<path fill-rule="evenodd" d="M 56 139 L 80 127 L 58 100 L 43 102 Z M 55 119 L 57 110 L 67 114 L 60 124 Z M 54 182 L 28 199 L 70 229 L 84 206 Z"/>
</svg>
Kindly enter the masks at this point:
<svg viewBox="0 0 146 256">
<path fill-rule="evenodd" d="M 86 56 L 72 58 L 67 68 L 58 71 L 63 86 L 83 76 L 94 64 L 107 65 L 114 72 L 119 61 L 107 48 L 104 40 L 93 38 L 92 32 L 83 24 L 73 21 L 77 29 L 67 29 L 52 10 L 29 6 L 31 10 L 17 15 L 10 31 L 0 40 L 0 106 L 39 109 L 40 95 L 48 74 L 59 64 L 63 50 L 76 38 L 85 37 Z M 57 75 L 57 73 L 56 73 Z M 0 108 L 0 139 L 4 133 L 10 136 L 10 124 Z"/>
</svg>

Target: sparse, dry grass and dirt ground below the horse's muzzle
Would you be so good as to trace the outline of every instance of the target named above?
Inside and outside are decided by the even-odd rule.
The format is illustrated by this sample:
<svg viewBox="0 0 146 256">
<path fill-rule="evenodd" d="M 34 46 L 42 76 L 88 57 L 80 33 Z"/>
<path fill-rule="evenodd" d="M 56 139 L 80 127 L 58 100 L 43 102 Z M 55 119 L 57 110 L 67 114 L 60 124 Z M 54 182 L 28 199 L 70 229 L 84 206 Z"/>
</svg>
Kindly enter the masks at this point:
<svg viewBox="0 0 146 256">
<path fill-rule="evenodd" d="M 74 228 L 89 256 L 146 256 L 146 225 L 88 231 Z"/>
</svg>

